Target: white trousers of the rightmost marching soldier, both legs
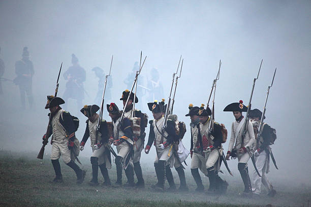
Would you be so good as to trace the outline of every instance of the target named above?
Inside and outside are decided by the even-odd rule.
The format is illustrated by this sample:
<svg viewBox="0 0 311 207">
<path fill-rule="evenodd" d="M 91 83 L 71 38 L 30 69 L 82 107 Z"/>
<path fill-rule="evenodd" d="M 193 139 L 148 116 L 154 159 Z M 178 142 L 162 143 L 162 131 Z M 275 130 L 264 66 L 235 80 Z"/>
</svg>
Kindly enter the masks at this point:
<svg viewBox="0 0 311 207">
<path fill-rule="evenodd" d="M 266 176 L 267 169 L 267 153 L 266 151 L 262 151 L 258 157 L 255 157 L 256 166 L 261 174 L 261 177 L 258 176 L 256 170 L 253 171 L 253 179 L 252 179 L 252 190 L 255 194 L 260 194 L 261 192 L 261 183 L 269 190 L 272 190 L 272 185 Z"/>
</svg>

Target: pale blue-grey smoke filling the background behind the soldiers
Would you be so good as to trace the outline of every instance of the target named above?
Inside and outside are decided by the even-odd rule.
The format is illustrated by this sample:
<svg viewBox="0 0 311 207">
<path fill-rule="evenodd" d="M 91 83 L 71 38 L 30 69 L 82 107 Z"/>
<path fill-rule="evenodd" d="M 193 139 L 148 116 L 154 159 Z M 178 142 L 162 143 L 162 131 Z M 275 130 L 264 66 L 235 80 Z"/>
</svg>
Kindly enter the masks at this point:
<svg viewBox="0 0 311 207">
<path fill-rule="evenodd" d="M 174 114 L 186 123 L 188 131 L 183 143 L 188 149 L 190 118 L 184 115 L 189 111 L 189 103 L 206 104 L 219 60 L 222 60 L 215 95 L 215 121 L 224 123 L 228 129 L 228 140 L 224 144 L 227 152 L 234 117 L 223 109 L 240 99 L 248 104 L 253 79 L 263 59 L 253 109 L 262 111 L 267 87 L 277 67 L 265 121 L 277 132 L 272 151 L 279 170 L 271 161 L 268 177 L 272 183 L 278 180 L 310 186 L 310 14 L 310 1 L 0 1 L 3 78 L 16 77 L 15 62 L 21 59 L 24 46 L 28 47 L 35 70 L 32 110 L 21 110 L 18 87 L 10 81 L 2 82 L 0 149 L 39 152 L 48 122 L 48 110 L 44 109 L 46 95 L 54 93 L 63 62 L 57 94 L 62 97 L 67 82 L 63 73 L 72 65 L 72 53 L 86 71 L 84 88 L 89 97 L 85 95 L 83 105 L 94 104 L 98 91 L 98 78 L 91 69 L 99 66 L 107 74 L 113 54 L 108 81 L 113 82 L 112 100 L 121 108 L 122 91 L 130 89 L 123 81 L 132 72 L 135 61 L 139 61 L 142 51 L 147 59 L 138 84 L 146 87 L 151 69 L 158 68 L 164 87 L 163 97 L 157 97 L 158 100 L 168 99 L 179 56 L 182 54 L 184 58 Z M 153 119 L 147 108 L 147 102 L 153 100 L 147 99 L 147 95 L 137 96 L 141 111 L 148 113 L 149 120 Z M 77 110 L 73 99 L 69 99 L 65 110 L 79 117 L 76 136 L 81 141 L 86 117 Z M 104 110 L 104 118 L 110 121 Z M 148 131 L 149 125 L 147 136 Z M 88 141 L 86 146 L 89 145 Z M 46 152 L 50 150 L 48 144 Z M 80 156 L 90 154 L 91 149 L 86 147 Z M 142 169 L 144 164 L 151 166 L 154 157 L 154 147 L 148 155 L 142 152 Z M 190 156 L 186 162 L 189 166 L 185 173 L 190 175 Z M 235 175 L 228 180 L 229 184 L 240 181 L 237 160 L 228 163 Z M 248 166 L 253 167 L 251 160 Z M 228 174 L 224 166 L 222 169 Z"/>
</svg>

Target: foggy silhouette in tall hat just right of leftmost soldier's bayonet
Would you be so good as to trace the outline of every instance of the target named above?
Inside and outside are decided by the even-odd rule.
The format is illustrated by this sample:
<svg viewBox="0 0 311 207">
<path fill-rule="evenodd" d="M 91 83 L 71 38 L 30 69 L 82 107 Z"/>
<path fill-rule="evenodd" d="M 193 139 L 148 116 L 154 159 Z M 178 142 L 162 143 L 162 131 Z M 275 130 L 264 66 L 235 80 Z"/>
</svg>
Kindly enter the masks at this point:
<svg viewBox="0 0 311 207">
<path fill-rule="evenodd" d="M 86 79 L 86 73 L 83 67 L 78 63 L 78 58 L 75 54 L 72 54 L 72 66 L 64 73 L 66 83 L 66 90 L 64 92 L 64 100 L 68 101 L 68 98 L 77 100 L 78 110 L 82 107 L 82 100 L 84 98 L 84 87 L 83 82 Z"/>
</svg>

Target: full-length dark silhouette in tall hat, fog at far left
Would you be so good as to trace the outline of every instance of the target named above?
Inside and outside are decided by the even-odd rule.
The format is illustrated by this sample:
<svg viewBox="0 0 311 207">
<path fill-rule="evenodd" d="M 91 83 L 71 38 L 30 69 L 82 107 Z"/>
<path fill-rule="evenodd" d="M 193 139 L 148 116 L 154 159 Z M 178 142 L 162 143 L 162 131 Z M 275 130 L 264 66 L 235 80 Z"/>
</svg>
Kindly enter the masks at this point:
<svg viewBox="0 0 311 207">
<path fill-rule="evenodd" d="M 25 109 L 25 94 L 27 94 L 29 108 L 33 108 L 33 76 L 35 74 L 33 62 L 29 60 L 28 48 L 24 47 L 22 59 L 15 63 L 17 77 L 13 82 L 19 86 L 22 109 Z"/>
</svg>

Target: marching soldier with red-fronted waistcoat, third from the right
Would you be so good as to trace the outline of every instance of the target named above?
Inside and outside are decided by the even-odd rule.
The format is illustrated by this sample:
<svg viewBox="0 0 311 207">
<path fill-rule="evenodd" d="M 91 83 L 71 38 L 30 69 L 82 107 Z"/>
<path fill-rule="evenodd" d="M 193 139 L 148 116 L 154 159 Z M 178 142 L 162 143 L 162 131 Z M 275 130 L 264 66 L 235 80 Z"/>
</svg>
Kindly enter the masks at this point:
<svg viewBox="0 0 311 207">
<path fill-rule="evenodd" d="M 222 143 L 224 143 L 224 140 L 222 128 L 224 126 L 211 120 L 211 110 L 208 107 L 204 109 L 203 103 L 197 116 L 199 116 L 200 123 L 197 125 L 199 126 L 199 142 L 196 143 L 196 149 L 202 153 L 206 160 L 205 167 L 209 179 L 208 191 L 211 193 L 225 193 L 228 184 L 217 175 L 220 169 L 220 156 L 223 153 Z M 211 131 L 209 131 L 210 124 Z"/>
</svg>

